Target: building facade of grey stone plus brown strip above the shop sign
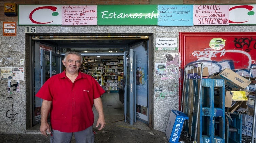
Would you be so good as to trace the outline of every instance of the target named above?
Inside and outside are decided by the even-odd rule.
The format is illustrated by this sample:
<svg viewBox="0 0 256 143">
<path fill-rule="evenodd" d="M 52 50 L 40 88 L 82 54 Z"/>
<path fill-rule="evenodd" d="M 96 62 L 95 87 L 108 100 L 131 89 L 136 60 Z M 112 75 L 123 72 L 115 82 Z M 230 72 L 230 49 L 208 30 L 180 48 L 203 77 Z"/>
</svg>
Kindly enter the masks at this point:
<svg viewBox="0 0 256 143">
<path fill-rule="evenodd" d="M 154 1 L 154 0 L 140 0 L 140 1 L 11 1 L 17 5 L 200 5 L 202 3 L 208 4 L 253 4 L 255 0 L 246 1 Z M 18 16 L 6 16 L 4 14 L 4 3 L 10 1 L 0 2 L 0 27 L 3 27 L 4 22 L 17 22 Z M 18 13 L 19 15 L 19 13 Z M 24 79 L 19 80 L 19 92 L 14 91 L 14 84 L 17 80 L 0 80 L 0 133 L 26 133 L 26 130 L 31 127 L 32 118 L 32 97 L 31 90 L 31 70 L 33 64 L 31 63 L 31 33 L 26 32 L 26 28 L 30 26 L 17 25 L 16 36 L 3 36 L 0 39 L 0 68 L 21 67 L 24 69 Z M 179 54 L 179 49 L 166 51 L 155 50 L 156 38 L 177 38 L 179 44 L 180 32 L 256 32 L 255 25 L 204 25 L 204 26 L 158 26 L 158 25 L 92 25 L 92 26 L 35 26 L 36 33 L 34 35 L 51 35 L 51 34 L 103 34 L 103 35 L 150 35 L 151 50 L 149 55 L 152 59 L 149 63 L 149 84 L 151 85 L 150 101 L 149 101 L 149 126 L 155 130 L 164 132 L 167 126 L 171 110 L 179 110 L 180 99 L 180 70 L 179 65 L 171 65 L 169 70 L 175 72 L 166 76 L 159 76 L 155 73 L 154 63 L 166 62 L 167 53 Z M 1 28 L 1 33 L 4 29 Z M 195 41 L 196 42 L 196 41 Z M 177 45 L 179 47 L 179 45 Z M 255 60 L 255 59 L 254 59 Z M 168 80 L 163 80 L 162 77 L 168 77 Z M 8 83 L 8 81 L 10 83 Z M 10 85 L 10 86 L 9 86 Z M 161 87 L 163 92 L 159 92 Z"/>
</svg>

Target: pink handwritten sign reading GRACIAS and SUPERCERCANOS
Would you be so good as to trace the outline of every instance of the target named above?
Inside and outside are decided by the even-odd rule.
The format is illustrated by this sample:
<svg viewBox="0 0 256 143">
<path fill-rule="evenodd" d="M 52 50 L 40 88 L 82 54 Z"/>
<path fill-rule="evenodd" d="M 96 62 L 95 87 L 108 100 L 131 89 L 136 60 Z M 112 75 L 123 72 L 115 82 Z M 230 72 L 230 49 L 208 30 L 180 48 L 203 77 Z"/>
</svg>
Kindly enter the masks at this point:
<svg viewBox="0 0 256 143">
<path fill-rule="evenodd" d="M 194 25 L 228 25 L 229 5 L 194 5 Z"/>
</svg>

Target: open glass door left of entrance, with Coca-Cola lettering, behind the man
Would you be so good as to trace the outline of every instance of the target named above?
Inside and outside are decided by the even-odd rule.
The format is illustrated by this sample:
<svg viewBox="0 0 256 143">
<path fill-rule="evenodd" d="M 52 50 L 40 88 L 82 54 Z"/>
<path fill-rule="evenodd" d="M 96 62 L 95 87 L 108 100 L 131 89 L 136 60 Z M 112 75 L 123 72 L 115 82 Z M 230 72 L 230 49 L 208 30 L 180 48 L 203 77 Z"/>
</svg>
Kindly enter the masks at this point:
<svg viewBox="0 0 256 143">
<path fill-rule="evenodd" d="M 32 104 L 33 125 L 40 122 L 42 99 L 35 97 L 38 90 L 51 76 L 62 72 L 62 55 L 54 53 L 55 47 L 35 42 L 34 48 L 34 96 Z"/>
</svg>

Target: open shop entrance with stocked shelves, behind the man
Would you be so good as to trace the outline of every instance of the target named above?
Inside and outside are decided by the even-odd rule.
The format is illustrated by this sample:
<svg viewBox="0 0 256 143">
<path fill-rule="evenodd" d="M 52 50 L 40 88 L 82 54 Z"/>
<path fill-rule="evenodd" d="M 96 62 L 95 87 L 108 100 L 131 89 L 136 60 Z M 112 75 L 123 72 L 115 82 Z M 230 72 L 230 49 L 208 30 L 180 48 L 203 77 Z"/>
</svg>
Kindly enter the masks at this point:
<svg viewBox="0 0 256 143">
<path fill-rule="evenodd" d="M 116 118 L 118 121 L 127 120 L 124 117 L 124 90 L 125 79 L 127 75 L 124 75 L 124 52 L 128 51 L 131 48 L 136 47 L 136 45 L 140 45 L 144 48 L 145 53 L 148 53 L 148 45 L 149 38 L 148 36 L 141 35 L 113 35 L 113 36 L 85 36 L 85 35 L 72 35 L 72 36 L 48 36 L 48 35 L 33 35 L 31 36 L 32 43 L 32 54 L 33 59 L 32 63 L 40 63 L 40 60 L 37 59 L 37 56 L 40 56 L 40 50 L 50 51 L 57 55 L 63 55 L 66 51 L 77 51 L 80 52 L 83 56 L 83 66 L 81 71 L 84 73 L 91 73 L 92 76 L 99 82 L 99 84 L 103 87 L 106 93 L 102 96 L 102 101 L 104 105 L 104 114 L 106 120 L 112 120 Z M 142 49 L 143 49 L 142 48 Z M 39 55 L 38 55 L 39 53 Z M 52 66 L 61 67 L 62 65 L 57 65 L 56 62 L 51 61 L 50 57 L 44 57 L 46 64 L 50 64 Z M 145 65 L 147 66 L 147 60 Z M 39 60 L 39 61 L 38 61 Z M 50 62 L 50 63 L 49 63 Z M 61 63 L 60 63 L 61 64 Z M 141 63 L 139 63 L 141 64 Z M 40 69 L 40 68 L 39 68 Z M 52 68 L 54 69 L 54 68 Z M 62 69 L 63 71 L 63 69 Z M 61 69 L 60 69 L 61 72 Z M 147 68 L 144 67 L 144 72 L 147 73 Z M 45 70 L 45 78 L 42 78 L 40 75 L 40 79 L 38 80 L 45 82 L 47 78 L 51 75 L 57 74 L 59 72 L 46 71 Z M 49 74 L 49 75 L 48 75 Z M 147 75 L 147 74 L 145 74 Z M 37 69 L 34 68 L 32 74 L 32 83 L 34 85 L 34 91 L 32 94 L 32 124 L 31 126 L 38 126 L 40 123 L 40 114 L 36 111 L 39 111 L 41 106 L 40 99 L 35 97 L 35 94 L 39 90 L 41 84 L 39 85 L 39 81 L 35 80 L 38 77 Z M 146 77 L 147 78 L 147 77 Z M 145 78 L 145 79 L 146 79 Z M 145 86 L 144 86 L 145 87 Z M 147 87 L 147 86 L 146 86 Z M 137 87 L 138 88 L 138 87 Z M 140 87 L 139 87 L 140 88 Z M 146 90 L 148 91 L 148 90 Z M 148 92 L 144 92 L 146 103 L 138 104 L 135 106 L 135 109 L 140 107 L 141 110 L 137 110 L 134 112 L 134 115 L 143 115 L 143 118 L 139 120 L 149 126 L 149 95 Z M 142 96 L 141 96 L 142 97 Z M 127 99 L 126 99 L 127 100 Z M 141 99 L 140 99 L 141 100 Z M 137 108 L 136 108 L 137 107 Z M 94 111 L 96 111 L 93 108 Z M 146 111 L 145 111 L 146 110 Z M 97 113 L 95 113 L 95 119 L 97 119 Z M 147 114 L 146 114 L 147 113 Z M 134 124 L 136 125 L 136 124 Z"/>
</svg>

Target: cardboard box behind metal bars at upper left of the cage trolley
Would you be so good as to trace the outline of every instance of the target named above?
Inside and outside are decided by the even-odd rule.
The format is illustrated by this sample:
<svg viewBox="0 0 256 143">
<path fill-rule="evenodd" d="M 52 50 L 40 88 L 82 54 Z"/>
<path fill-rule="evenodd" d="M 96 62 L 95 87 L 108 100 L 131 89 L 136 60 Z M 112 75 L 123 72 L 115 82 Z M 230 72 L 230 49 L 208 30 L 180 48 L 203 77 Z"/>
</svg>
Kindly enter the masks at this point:
<svg viewBox="0 0 256 143">
<path fill-rule="evenodd" d="M 188 79 L 199 79 L 201 77 L 201 67 L 195 67 L 187 71 Z M 203 77 L 209 76 L 208 67 L 203 68 Z"/>
</svg>

